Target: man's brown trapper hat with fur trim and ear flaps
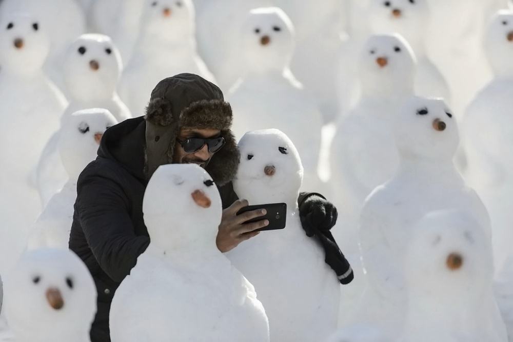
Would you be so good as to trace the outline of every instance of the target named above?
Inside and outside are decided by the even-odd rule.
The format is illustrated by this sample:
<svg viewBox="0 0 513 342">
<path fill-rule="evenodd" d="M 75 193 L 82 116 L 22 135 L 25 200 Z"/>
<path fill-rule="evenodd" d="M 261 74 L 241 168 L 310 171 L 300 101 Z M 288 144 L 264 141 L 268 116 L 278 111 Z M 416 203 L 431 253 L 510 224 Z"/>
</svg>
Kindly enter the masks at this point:
<svg viewBox="0 0 513 342">
<path fill-rule="evenodd" d="M 172 163 L 182 128 L 221 130 L 226 144 L 212 156 L 206 171 L 220 186 L 233 179 L 240 156 L 231 132 L 231 107 L 219 87 L 194 74 L 163 79 L 151 92 L 145 118 L 148 179 L 159 166 Z"/>
</svg>

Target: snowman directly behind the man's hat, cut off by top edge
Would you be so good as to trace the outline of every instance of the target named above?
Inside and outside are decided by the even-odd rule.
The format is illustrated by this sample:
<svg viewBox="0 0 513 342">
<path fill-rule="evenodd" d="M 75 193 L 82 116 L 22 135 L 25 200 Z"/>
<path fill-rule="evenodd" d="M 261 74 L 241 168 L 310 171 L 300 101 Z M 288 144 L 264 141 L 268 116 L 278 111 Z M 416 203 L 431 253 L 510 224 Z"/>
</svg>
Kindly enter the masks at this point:
<svg viewBox="0 0 513 342">
<path fill-rule="evenodd" d="M 148 94 L 163 77 L 183 72 L 214 77 L 196 51 L 191 0 L 146 0 L 139 38 L 121 78 L 121 98 L 135 115 L 144 113 Z"/>
</svg>

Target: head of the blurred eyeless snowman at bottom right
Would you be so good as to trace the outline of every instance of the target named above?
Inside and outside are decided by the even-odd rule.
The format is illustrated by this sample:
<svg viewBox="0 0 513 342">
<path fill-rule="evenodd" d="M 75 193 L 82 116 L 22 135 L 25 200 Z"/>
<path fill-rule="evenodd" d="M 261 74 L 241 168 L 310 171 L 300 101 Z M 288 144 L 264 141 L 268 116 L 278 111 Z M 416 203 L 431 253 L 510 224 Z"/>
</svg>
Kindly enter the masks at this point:
<svg viewBox="0 0 513 342">
<path fill-rule="evenodd" d="M 469 213 L 432 212 L 413 228 L 405 259 L 411 291 L 466 301 L 491 285 L 493 274 L 490 240 Z"/>
</svg>

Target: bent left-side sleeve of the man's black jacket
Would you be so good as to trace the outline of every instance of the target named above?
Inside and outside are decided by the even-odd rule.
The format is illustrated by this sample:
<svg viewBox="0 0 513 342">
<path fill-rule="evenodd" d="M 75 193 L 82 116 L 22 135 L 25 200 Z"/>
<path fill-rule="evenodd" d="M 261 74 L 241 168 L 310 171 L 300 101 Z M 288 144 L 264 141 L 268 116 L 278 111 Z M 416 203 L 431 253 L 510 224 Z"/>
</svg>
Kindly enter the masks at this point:
<svg viewBox="0 0 513 342">
<path fill-rule="evenodd" d="M 135 235 L 128 200 L 115 178 L 97 171 L 79 179 L 75 212 L 94 258 L 111 279 L 121 282 L 150 239 Z"/>
</svg>

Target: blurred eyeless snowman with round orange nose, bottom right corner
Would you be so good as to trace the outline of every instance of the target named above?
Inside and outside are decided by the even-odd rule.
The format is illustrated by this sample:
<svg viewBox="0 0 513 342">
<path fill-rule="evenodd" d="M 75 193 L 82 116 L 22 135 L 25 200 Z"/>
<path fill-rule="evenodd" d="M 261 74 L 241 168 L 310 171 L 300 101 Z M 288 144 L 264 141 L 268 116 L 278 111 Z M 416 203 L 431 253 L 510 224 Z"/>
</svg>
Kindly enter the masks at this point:
<svg viewBox="0 0 513 342">
<path fill-rule="evenodd" d="M 492 293 L 490 238 L 471 212 L 428 213 L 411 228 L 401 342 L 507 341 Z"/>
</svg>

